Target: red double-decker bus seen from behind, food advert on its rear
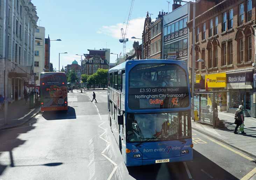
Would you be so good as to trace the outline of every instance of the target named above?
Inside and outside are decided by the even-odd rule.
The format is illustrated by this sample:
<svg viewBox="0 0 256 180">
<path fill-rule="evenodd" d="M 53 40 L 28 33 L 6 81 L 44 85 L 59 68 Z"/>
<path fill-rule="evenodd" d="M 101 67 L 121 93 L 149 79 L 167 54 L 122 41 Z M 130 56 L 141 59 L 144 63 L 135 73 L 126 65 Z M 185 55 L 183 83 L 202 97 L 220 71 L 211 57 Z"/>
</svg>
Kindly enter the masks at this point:
<svg viewBox="0 0 256 180">
<path fill-rule="evenodd" d="M 67 77 L 63 72 L 43 72 L 40 76 L 41 111 L 67 111 Z"/>
</svg>

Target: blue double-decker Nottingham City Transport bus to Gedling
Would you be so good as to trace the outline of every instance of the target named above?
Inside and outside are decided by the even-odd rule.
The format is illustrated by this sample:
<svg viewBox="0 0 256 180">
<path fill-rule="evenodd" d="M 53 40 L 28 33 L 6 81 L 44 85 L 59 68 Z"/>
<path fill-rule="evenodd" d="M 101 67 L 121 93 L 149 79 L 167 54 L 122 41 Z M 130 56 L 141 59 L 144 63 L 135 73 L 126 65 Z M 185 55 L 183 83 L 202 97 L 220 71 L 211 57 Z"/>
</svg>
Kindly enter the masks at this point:
<svg viewBox="0 0 256 180">
<path fill-rule="evenodd" d="M 129 60 L 110 69 L 108 112 L 126 166 L 193 159 L 184 61 Z"/>
</svg>

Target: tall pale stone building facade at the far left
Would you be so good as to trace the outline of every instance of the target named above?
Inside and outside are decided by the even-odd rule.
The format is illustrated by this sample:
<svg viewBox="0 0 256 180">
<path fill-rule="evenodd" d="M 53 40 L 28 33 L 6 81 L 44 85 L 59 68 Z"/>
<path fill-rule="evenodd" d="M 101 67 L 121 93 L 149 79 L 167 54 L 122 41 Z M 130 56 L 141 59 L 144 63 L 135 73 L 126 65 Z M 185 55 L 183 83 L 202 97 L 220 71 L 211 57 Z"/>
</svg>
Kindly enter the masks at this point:
<svg viewBox="0 0 256 180">
<path fill-rule="evenodd" d="M 38 16 L 31 0 L 4 0 L 0 17 L 0 94 L 13 102 L 31 84 Z"/>
</svg>

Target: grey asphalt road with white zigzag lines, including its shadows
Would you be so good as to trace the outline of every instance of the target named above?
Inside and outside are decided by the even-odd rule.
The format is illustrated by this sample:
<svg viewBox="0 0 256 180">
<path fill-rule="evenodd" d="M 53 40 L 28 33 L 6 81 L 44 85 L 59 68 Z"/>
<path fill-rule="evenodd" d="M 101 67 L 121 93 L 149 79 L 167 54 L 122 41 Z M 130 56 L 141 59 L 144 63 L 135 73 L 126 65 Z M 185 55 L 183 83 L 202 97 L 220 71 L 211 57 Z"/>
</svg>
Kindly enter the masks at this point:
<svg viewBox="0 0 256 180">
<path fill-rule="evenodd" d="M 0 180 L 255 180 L 253 158 L 193 131 L 194 159 L 128 168 L 108 125 L 107 91 L 69 93 L 68 112 L 0 131 Z"/>
</svg>

